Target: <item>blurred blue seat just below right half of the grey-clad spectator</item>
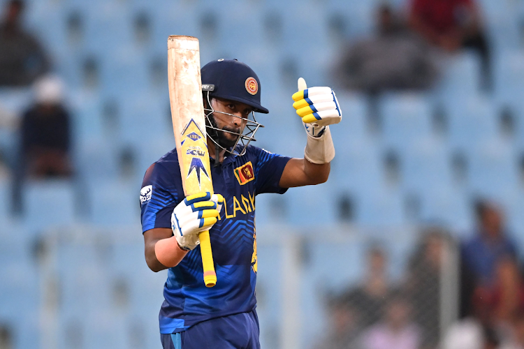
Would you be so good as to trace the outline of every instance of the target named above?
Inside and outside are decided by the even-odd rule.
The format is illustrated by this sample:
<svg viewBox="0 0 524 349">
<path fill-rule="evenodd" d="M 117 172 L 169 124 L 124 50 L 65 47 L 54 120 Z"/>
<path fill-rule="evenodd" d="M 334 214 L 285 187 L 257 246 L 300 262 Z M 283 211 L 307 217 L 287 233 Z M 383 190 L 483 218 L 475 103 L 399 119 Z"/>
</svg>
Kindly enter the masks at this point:
<svg viewBox="0 0 524 349">
<path fill-rule="evenodd" d="M 381 98 L 383 141 L 388 146 L 412 147 L 416 138 L 431 134 L 431 108 L 421 94 L 388 94 Z"/>
</svg>

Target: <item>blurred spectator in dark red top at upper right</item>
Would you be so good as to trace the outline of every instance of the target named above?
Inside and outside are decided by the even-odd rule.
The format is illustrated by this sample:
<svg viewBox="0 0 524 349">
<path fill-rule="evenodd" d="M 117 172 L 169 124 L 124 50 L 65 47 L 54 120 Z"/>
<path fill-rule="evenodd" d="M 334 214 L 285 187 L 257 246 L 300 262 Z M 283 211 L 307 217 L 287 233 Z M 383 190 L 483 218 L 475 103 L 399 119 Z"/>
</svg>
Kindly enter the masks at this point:
<svg viewBox="0 0 524 349">
<path fill-rule="evenodd" d="M 490 53 L 475 0 L 412 0 L 409 25 L 448 52 L 470 48 L 482 60 L 482 87 L 490 89 Z"/>
</svg>

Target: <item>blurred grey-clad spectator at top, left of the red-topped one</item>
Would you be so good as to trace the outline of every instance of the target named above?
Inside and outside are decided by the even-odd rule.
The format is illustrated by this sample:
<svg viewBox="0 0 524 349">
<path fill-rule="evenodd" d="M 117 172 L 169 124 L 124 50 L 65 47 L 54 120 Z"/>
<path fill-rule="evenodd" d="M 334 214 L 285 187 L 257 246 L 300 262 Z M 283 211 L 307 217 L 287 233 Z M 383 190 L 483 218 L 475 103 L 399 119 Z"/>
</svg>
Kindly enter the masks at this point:
<svg viewBox="0 0 524 349">
<path fill-rule="evenodd" d="M 368 94 L 430 87 L 437 69 L 423 40 L 399 24 L 387 5 L 377 11 L 377 28 L 376 36 L 342 53 L 338 83 Z"/>
</svg>

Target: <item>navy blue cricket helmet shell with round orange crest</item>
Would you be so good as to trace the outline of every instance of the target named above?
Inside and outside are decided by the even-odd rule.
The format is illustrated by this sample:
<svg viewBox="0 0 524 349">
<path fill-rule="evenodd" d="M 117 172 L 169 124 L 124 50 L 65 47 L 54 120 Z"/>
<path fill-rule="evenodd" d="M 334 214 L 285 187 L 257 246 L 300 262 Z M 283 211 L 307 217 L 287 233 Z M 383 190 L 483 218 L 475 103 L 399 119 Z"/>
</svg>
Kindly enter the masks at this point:
<svg viewBox="0 0 524 349">
<path fill-rule="evenodd" d="M 210 97 L 245 103 L 255 112 L 268 114 L 260 104 L 260 80 L 252 68 L 236 59 L 210 61 L 201 69 L 202 90 Z"/>
</svg>

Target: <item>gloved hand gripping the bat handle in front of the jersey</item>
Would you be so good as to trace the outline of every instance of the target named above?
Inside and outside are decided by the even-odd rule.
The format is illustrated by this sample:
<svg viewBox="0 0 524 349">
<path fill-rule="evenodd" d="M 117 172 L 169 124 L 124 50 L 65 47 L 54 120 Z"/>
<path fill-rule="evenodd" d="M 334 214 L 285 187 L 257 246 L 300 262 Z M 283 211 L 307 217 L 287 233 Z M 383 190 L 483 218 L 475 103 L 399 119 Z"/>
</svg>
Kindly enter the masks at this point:
<svg viewBox="0 0 524 349">
<path fill-rule="evenodd" d="M 182 249 L 192 250 L 198 244 L 198 233 L 210 230 L 217 223 L 224 198 L 203 191 L 189 195 L 173 209 L 171 228 Z"/>
</svg>

